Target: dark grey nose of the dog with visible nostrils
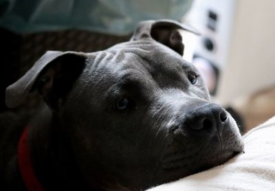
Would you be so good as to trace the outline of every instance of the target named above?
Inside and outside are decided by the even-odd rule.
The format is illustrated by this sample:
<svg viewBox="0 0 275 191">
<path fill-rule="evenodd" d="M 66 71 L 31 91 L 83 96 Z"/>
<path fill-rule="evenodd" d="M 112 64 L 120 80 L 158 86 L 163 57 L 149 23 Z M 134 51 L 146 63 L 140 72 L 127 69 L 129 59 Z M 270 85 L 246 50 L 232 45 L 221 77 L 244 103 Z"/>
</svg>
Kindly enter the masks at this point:
<svg viewBox="0 0 275 191">
<path fill-rule="evenodd" d="M 217 104 L 207 104 L 193 109 L 184 119 L 184 127 L 193 130 L 219 128 L 228 121 L 225 109 Z"/>
</svg>

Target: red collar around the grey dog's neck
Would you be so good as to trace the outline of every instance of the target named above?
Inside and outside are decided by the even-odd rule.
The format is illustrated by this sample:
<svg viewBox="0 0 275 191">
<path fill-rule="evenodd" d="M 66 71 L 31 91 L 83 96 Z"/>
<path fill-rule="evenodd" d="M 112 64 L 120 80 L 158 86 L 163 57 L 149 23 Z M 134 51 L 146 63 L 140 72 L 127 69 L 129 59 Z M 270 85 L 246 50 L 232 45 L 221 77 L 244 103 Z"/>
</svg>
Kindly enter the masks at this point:
<svg viewBox="0 0 275 191">
<path fill-rule="evenodd" d="M 18 146 L 18 165 L 21 176 L 28 191 L 43 191 L 41 184 L 36 179 L 32 161 L 30 159 L 30 151 L 28 148 L 28 128 L 25 127 L 21 135 Z"/>
</svg>

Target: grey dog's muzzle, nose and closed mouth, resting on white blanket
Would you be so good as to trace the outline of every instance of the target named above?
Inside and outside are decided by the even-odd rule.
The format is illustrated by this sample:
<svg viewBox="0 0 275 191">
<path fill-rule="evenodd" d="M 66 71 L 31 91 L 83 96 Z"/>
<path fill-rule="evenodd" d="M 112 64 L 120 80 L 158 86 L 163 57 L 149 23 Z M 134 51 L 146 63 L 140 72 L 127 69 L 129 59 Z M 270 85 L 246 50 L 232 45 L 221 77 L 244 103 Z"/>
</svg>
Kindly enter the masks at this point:
<svg viewBox="0 0 275 191">
<path fill-rule="evenodd" d="M 243 150 L 231 115 L 210 102 L 189 108 L 188 113 L 178 117 L 168 137 L 161 164 L 163 169 L 181 171 L 175 176 L 223 164 Z"/>
</svg>

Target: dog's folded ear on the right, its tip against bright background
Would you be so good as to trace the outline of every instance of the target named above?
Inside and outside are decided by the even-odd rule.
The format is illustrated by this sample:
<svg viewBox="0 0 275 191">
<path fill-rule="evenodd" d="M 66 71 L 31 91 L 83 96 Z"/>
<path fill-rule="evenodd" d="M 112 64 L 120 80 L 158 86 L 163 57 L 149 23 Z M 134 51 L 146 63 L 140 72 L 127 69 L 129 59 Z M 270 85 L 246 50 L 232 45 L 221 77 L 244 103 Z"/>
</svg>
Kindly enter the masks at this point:
<svg viewBox="0 0 275 191">
<path fill-rule="evenodd" d="M 177 31 L 179 29 L 199 35 L 199 32 L 187 24 L 164 19 L 157 21 L 142 21 L 138 23 L 131 41 L 153 38 L 155 41 L 170 47 L 183 56 L 184 44 L 182 43 L 181 35 Z"/>
</svg>

